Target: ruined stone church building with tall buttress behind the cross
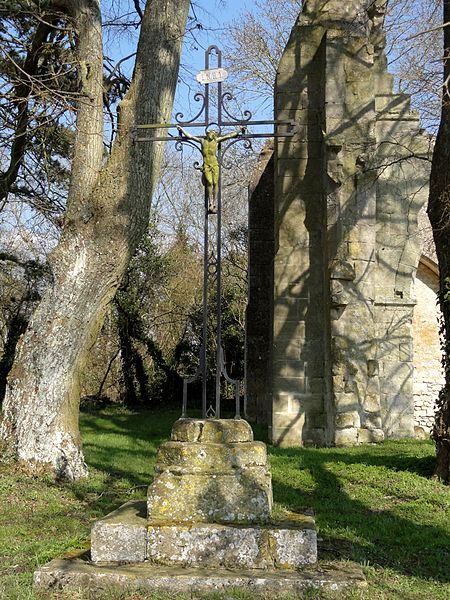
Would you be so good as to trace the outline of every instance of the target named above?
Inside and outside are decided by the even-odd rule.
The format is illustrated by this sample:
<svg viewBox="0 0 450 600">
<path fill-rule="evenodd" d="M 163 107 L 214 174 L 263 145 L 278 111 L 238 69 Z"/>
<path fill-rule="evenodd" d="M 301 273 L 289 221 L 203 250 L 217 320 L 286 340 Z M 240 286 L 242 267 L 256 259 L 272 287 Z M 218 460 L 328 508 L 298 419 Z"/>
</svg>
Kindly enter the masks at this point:
<svg viewBox="0 0 450 600">
<path fill-rule="evenodd" d="M 393 92 L 384 0 L 308 0 L 251 189 L 248 412 L 282 445 L 426 433 L 440 386 L 421 231 L 429 136 Z M 280 125 L 280 127 L 283 127 Z"/>
</svg>

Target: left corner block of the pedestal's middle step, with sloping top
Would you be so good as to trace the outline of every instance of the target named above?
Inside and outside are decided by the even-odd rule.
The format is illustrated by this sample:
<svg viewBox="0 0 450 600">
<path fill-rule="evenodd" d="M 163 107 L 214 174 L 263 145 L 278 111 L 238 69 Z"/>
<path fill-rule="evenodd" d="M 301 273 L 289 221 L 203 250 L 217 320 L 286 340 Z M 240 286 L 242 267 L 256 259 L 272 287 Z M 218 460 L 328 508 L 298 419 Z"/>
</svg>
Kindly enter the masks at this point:
<svg viewBox="0 0 450 600">
<path fill-rule="evenodd" d="M 96 521 L 91 531 L 93 562 L 143 562 L 147 552 L 146 504 L 130 501 Z"/>
</svg>

